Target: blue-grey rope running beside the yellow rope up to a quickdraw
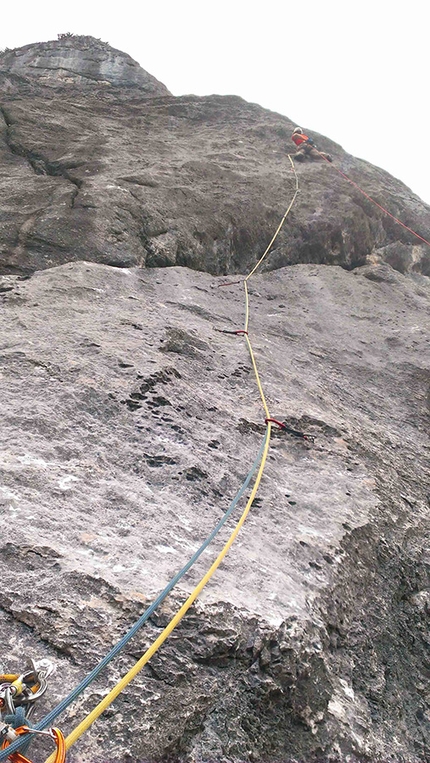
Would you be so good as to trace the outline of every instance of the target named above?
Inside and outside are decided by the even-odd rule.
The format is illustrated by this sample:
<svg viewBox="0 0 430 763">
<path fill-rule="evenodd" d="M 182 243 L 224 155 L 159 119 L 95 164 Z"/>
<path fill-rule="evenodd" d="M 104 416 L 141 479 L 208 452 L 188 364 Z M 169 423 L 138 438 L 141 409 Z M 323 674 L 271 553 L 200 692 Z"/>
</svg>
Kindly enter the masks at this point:
<svg viewBox="0 0 430 763">
<path fill-rule="evenodd" d="M 218 524 L 214 527 L 210 535 L 206 538 L 204 543 L 200 546 L 200 548 L 193 554 L 191 559 L 186 563 L 184 567 L 170 580 L 170 582 L 167 584 L 165 589 L 157 596 L 157 598 L 152 602 L 152 604 L 148 607 L 147 610 L 139 617 L 139 619 L 136 621 L 136 623 L 130 628 L 130 630 L 118 641 L 117 644 L 111 649 L 110 652 L 104 657 L 98 665 L 96 665 L 93 670 L 88 673 L 88 675 L 70 692 L 70 694 L 67 695 L 64 699 L 61 700 L 61 702 L 56 705 L 47 715 L 45 715 L 44 718 L 42 718 L 39 723 L 37 723 L 34 728 L 38 731 L 41 731 L 42 729 L 46 729 L 48 726 L 51 726 L 52 722 L 57 718 L 61 713 L 64 712 L 68 708 L 68 706 L 74 702 L 79 695 L 94 681 L 94 679 L 101 673 L 101 671 L 110 663 L 111 660 L 113 660 L 114 657 L 117 656 L 117 654 L 120 653 L 120 651 L 124 648 L 124 646 L 130 641 L 130 639 L 133 638 L 133 636 L 136 635 L 139 628 L 142 627 L 144 623 L 148 620 L 149 617 L 155 612 L 157 607 L 161 604 L 162 601 L 166 598 L 166 596 L 171 592 L 171 590 L 174 588 L 176 583 L 185 575 L 186 572 L 192 567 L 194 562 L 197 561 L 199 556 L 203 553 L 203 551 L 208 547 L 209 543 L 215 538 L 215 536 L 218 534 L 218 532 L 221 530 L 222 526 L 226 523 L 227 519 L 231 516 L 233 511 L 235 510 L 237 504 L 239 503 L 240 499 L 242 498 L 245 490 L 247 489 L 249 483 L 252 480 L 252 477 L 254 476 L 255 472 L 258 469 L 258 465 L 261 461 L 261 457 L 263 455 L 264 446 L 266 443 L 266 439 L 268 436 L 268 429 L 266 429 L 266 433 L 263 438 L 263 442 L 261 443 L 260 450 L 258 451 L 257 457 L 251 466 L 251 469 L 249 470 L 246 479 L 240 488 L 240 490 L 236 493 L 235 497 L 233 498 L 230 506 L 228 507 L 225 514 L 222 516 Z M 6 758 L 15 750 L 18 750 L 24 743 L 23 739 L 17 739 L 15 742 L 12 742 L 7 749 L 0 750 L 0 761 L 6 760 Z"/>
</svg>

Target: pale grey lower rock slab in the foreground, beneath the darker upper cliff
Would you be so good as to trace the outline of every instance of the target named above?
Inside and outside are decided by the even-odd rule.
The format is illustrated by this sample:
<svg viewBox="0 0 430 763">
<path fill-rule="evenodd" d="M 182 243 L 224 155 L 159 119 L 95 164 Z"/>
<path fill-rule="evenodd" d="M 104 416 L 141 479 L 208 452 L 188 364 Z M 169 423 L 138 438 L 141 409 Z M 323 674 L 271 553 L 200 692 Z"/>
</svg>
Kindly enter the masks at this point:
<svg viewBox="0 0 430 763">
<path fill-rule="evenodd" d="M 55 662 L 37 719 L 187 561 L 257 454 L 246 345 L 216 330 L 243 326 L 243 290 L 222 280 L 92 262 L 1 279 L 2 667 Z M 273 432 L 233 549 L 72 762 L 428 760 L 429 279 L 297 264 L 249 289 L 271 414 L 314 442 Z"/>
</svg>

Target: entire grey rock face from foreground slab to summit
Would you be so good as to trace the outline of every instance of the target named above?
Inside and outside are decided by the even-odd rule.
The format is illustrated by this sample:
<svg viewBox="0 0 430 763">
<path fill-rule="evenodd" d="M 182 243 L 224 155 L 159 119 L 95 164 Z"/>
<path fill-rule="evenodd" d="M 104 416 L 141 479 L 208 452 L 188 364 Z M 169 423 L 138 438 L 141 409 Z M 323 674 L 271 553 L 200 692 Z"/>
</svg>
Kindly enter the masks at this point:
<svg viewBox="0 0 430 763">
<path fill-rule="evenodd" d="M 54 661 L 37 721 L 187 561 L 258 452 L 246 345 L 215 331 L 242 328 L 243 290 L 219 276 L 249 270 L 291 199 L 293 122 L 174 97 L 71 35 L 3 52 L 0 90 L 1 667 Z M 430 238 L 408 188 L 316 138 Z M 430 249 L 333 166 L 297 173 L 249 282 L 250 331 L 271 414 L 314 442 L 273 433 L 226 560 L 71 763 L 430 760 Z"/>
</svg>

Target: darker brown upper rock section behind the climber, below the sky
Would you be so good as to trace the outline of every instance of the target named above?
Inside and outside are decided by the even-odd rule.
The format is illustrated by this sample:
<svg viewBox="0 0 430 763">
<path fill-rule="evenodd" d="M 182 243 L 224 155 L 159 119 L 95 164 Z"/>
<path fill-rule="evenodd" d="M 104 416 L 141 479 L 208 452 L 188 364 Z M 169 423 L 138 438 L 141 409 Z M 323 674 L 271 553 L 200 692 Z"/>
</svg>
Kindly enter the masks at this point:
<svg viewBox="0 0 430 763">
<path fill-rule="evenodd" d="M 292 197 L 291 120 L 234 96 L 175 98 L 124 54 L 80 39 L 0 56 L 0 272 L 76 259 L 245 272 Z M 430 237 L 429 207 L 408 188 L 314 137 L 333 166 Z M 297 172 L 299 201 L 268 267 L 371 258 L 430 272 L 429 248 L 333 167 Z"/>
</svg>

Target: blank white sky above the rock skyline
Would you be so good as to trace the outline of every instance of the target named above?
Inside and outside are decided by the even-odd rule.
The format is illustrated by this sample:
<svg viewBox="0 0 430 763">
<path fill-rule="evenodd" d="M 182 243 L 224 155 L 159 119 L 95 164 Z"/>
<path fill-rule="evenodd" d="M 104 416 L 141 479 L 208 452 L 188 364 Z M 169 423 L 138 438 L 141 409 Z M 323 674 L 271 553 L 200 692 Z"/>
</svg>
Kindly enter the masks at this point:
<svg viewBox="0 0 430 763">
<path fill-rule="evenodd" d="M 73 32 L 135 58 L 174 95 L 236 94 L 383 167 L 430 203 L 425 0 L 21 0 L 0 48 Z"/>
</svg>

